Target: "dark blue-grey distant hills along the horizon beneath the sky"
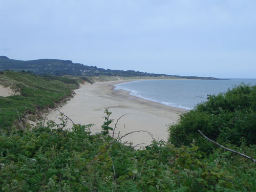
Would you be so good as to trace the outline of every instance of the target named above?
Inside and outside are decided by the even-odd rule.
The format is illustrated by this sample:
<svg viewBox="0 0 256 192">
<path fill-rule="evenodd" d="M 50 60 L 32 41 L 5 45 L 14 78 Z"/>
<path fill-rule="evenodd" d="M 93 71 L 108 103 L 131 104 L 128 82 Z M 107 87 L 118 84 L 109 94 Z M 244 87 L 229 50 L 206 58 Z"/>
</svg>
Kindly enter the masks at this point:
<svg viewBox="0 0 256 192">
<path fill-rule="evenodd" d="M 196 76 L 180 76 L 145 73 L 139 71 L 123 71 L 97 68 L 96 66 L 86 66 L 81 63 L 73 63 L 71 60 L 60 59 L 37 59 L 37 60 L 15 60 L 6 56 L 0 56 L 0 71 L 30 71 L 37 75 L 75 75 L 75 76 L 147 76 L 147 77 L 169 77 L 169 78 L 186 78 L 186 79 L 217 79 L 214 77 L 196 77 Z"/>
</svg>

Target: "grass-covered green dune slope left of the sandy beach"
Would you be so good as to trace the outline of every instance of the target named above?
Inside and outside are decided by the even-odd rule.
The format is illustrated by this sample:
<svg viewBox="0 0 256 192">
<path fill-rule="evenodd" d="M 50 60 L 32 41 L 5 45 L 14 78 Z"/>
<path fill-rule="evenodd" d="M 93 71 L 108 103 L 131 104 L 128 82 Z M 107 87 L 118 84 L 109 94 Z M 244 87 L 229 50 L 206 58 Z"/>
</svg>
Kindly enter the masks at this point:
<svg viewBox="0 0 256 192">
<path fill-rule="evenodd" d="M 77 80 L 65 77 L 40 77 L 32 73 L 5 71 L 0 84 L 17 90 L 20 95 L 0 97 L 0 130 L 12 132 L 12 126 L 25 114 L 55 106 L 78 88 Z"/>
</svg>

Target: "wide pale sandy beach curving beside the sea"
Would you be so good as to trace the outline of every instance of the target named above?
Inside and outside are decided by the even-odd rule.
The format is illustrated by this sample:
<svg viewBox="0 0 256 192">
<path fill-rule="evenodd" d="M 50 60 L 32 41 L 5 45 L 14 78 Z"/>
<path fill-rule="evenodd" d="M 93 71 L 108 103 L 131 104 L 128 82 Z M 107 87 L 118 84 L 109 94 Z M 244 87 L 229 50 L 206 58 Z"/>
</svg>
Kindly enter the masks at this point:
<svg viewBox="0 0 256 192">
<path fill-rule="evenodd" d="M 178 120 L 179 114 L 186 110 L 165 106 L 153 101 L 137 98 L 129 95 L 129 92 L 123 90 L 114 90 L 114 85 L 128 80 L 96 82 L 94 84 L 81 84 L 80 88 L 75 90 L 75 96 L 59 110 L 71 118 L 77 124 L 95 124 L 91 127 L 92 133 L 101 132 L 101 125 L 104 122 L 102 118 L 104 109 L 109 108 L 112 112 L 112 127 L 116 120 L 123 114 L 118 124 L 116 133 L 120 136 L 126 133 L 144 130 L 152 133 L 155 139 L 167 140 L 167 125 Z M 48 120 L 59 122 L 58 111 L 52 111 Z M 69 122 L 68 127 L 72 123 Z M 127 135 L 122 141 L 132 142 L 133 145 L 146 146 L 151 143 L 152 138 L 145 132 Z"/>
</svg>

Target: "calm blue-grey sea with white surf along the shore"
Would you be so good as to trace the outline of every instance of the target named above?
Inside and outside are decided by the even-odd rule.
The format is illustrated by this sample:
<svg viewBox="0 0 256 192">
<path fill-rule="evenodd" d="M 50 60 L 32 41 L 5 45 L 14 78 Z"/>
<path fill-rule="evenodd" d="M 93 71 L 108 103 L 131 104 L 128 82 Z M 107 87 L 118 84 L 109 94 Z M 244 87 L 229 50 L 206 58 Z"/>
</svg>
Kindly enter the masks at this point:
<svg viewBox="0 0 256 192">
<path fill-rule="evenodd" d="M 140 80 L 117 84 L 115 90 L 168 106 L 191 110 L 206 101 L 207 95 L 226 92 L 241 83 L 256 84 L 256 79 L 229 80 Z"/>
</svg>

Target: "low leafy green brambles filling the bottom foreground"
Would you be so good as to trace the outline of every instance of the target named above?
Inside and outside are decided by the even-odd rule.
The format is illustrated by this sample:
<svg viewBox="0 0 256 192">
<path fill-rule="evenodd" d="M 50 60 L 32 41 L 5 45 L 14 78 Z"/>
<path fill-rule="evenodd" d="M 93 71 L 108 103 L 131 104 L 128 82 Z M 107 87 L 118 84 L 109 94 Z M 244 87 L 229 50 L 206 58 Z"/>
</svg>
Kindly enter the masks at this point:
<svg viewBox="0 0 256 192">
<path fill-rule="evenodd" d="M 229 152 L 202 158 L 195 144 L 163 141 L 137 151 L 105 131 L 91 135 L 91 125 L 65 124 L 0 136 L 1 191 L 256 191 L 255 164 Z"/>
</svg>

